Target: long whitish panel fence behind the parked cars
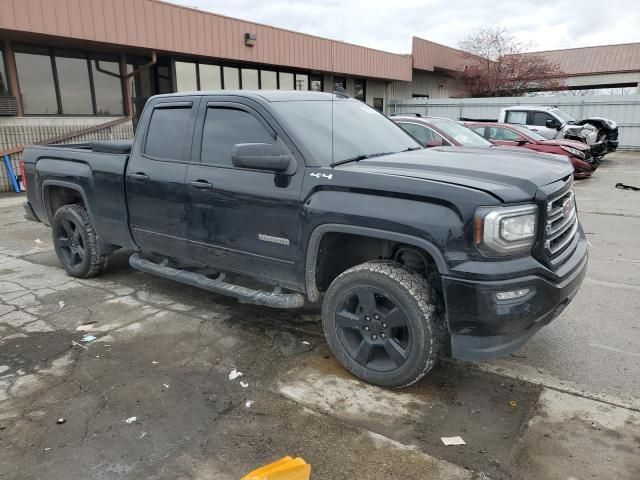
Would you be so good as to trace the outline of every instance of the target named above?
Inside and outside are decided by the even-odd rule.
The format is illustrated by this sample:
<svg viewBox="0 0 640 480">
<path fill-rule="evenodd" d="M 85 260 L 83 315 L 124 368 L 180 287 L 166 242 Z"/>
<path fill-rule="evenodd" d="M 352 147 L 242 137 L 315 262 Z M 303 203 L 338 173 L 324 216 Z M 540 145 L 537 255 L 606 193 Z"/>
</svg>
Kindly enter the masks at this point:
<svg viewBox="0 0 640 480">
<path fill-rule="evenodd" d="M 619 128 L 619 148 L 640 150 L 640 95 L 603 95 L 597 97 L 545 96 L 500 98 L 449 98 L 429 100 L 392 100 L 389 113 L 419 113 L 453 120 L 497 119 L 500 109 L 512 105 L 557 105 L 579 119 L 604 117 L 615 120 Z"/>
</svg>

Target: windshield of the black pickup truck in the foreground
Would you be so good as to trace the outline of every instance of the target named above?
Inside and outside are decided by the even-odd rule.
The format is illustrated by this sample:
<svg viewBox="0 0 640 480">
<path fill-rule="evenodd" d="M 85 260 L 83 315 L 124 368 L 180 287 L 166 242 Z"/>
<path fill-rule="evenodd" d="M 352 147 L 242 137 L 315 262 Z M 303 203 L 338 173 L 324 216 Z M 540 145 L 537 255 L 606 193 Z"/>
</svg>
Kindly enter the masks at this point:
<svg viewBox="0 0 640 480">
<path fill-rule="evenodd" d="M 395 123 L 359 100 L 301 100 L 273 102 L 272 106 L 321 165 L 422 148 Z"/>
</svg>

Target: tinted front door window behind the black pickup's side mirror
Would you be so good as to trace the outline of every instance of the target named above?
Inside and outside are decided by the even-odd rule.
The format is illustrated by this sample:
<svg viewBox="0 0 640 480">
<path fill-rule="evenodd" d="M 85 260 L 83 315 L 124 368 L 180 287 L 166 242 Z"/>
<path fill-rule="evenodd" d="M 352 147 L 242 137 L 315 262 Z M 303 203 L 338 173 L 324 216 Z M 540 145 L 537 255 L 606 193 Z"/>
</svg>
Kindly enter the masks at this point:
<svg viewBox="0 0 640 480">
<path fill-rule="evenodd" d="M 256 117 L 234 108 L 208 108 L 202 134 L 200 161 L 212 165 L 232 165 L 231 149 L 237 143 L 274 143 Z"/>
</svg>

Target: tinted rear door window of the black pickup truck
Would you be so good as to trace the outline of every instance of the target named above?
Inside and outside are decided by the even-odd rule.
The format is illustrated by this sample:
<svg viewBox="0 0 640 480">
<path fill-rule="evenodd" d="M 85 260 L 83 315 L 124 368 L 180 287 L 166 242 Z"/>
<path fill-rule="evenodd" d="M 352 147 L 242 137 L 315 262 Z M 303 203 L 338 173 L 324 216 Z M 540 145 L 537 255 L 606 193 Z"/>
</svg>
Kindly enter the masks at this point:
<svg viewBox="0 0 640 480">
<path fill-rule="evenodd" d="M 167 160 L 184 160 L 191 107 L 157 108 L 151 115 L 144 153 Z"/>
</svg>

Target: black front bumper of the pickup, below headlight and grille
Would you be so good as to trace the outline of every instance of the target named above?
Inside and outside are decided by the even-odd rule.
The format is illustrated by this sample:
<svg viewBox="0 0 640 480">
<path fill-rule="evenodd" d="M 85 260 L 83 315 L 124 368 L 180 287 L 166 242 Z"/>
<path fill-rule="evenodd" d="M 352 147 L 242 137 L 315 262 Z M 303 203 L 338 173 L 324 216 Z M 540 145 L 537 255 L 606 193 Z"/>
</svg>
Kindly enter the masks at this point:
<svg viewBox="0 0 640 480">
<path fill-rule="evenodd" d="M 488 267 L 490 268 L 490 267 Z M 533 272 L 500 280 L 443 277 L 451 356 L 489 360 L 510 354 L 571 302 L 587 271 L 584 233 L 555 279 Z M 530 289 L 521 298 L 498 300 L 497 292 Z"/>
</svg>

